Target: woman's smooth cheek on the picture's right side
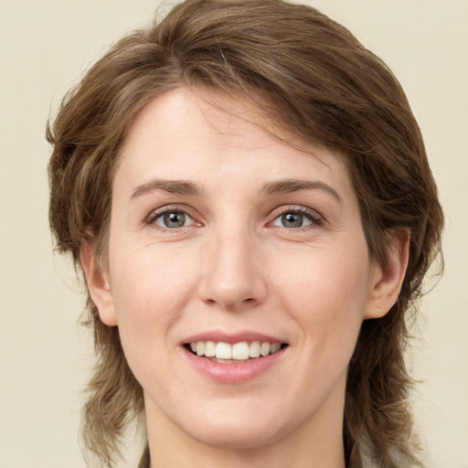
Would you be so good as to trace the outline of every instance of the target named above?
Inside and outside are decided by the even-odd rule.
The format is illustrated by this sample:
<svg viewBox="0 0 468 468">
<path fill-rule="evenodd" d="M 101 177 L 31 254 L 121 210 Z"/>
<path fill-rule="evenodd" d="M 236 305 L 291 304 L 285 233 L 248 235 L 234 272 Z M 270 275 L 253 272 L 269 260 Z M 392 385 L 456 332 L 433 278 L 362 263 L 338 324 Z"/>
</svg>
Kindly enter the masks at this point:
<svg viewBox="0 0 468 468">
<path fill-rule="evenodd" d="M 311 249 L 301 264 L 293 268 L 288 262 L 282 269 L 277 290 L 284 307 L 300 325 L 309 355 L 344 361 L 356 344 L 367 301 L 367 249 Z"/>
</svg>

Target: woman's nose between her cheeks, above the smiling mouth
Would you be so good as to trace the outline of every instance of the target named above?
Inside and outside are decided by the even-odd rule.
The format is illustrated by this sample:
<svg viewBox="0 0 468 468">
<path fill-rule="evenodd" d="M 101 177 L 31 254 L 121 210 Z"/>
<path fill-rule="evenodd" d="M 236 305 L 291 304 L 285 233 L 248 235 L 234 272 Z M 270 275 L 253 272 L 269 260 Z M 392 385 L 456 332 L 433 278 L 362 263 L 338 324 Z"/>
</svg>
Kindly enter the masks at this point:
<svg viewBox="0 0 468 468">
<path fill-rule="evenodd" d="M 267 295 L 259 245 L 248 233 L 222 229 L 207 240 L 201 261 L 200 297 L 225 310 L 262 303 Z"/>
</svg>

